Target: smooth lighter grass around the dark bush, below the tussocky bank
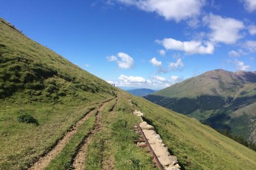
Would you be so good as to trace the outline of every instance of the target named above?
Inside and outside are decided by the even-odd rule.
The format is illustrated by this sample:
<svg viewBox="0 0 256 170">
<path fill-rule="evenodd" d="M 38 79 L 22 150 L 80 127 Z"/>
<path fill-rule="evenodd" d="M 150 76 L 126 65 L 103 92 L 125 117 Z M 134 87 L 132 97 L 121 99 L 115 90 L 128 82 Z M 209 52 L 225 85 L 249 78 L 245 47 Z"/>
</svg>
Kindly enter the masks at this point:
<svg viewBox="0 0 256 170">
<path fill-rule="evenodd" d="M 85 113 L 98 105 L 42 105 L 35 102 L 21 105 L 5 101 L 0 111 L 0 169 L 27 168 L 56 144 Z M 32 115 L 39 125 L 20 123 L 17 116 L 23 113 Z"/>
</svg>

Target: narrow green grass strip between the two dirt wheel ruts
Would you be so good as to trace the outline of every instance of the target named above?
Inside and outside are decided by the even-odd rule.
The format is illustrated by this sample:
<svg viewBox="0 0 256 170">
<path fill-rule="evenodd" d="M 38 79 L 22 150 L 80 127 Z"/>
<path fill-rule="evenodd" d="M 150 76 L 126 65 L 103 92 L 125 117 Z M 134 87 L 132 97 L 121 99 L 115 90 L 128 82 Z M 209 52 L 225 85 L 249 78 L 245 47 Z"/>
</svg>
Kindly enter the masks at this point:
<svg viewBox="0 0 256 170">
<path fill-rule="evenodd" d="M 93 111 L 93 114 L 88 118 L 83 124 L 79 126 L 77 132 L 70 139 L 67 145 L 63 148 L 61 153 L 59 153 L 54 160 L 52 160 L 46 169 L 70 169 L 72 168 L 72 158 L 74 158 L 77 148 L 82 143 L 83 139 L 87 137 L 88 133 L 95 126 L 95 116 L 98 113 L 97 110 Z"/>
</svg>

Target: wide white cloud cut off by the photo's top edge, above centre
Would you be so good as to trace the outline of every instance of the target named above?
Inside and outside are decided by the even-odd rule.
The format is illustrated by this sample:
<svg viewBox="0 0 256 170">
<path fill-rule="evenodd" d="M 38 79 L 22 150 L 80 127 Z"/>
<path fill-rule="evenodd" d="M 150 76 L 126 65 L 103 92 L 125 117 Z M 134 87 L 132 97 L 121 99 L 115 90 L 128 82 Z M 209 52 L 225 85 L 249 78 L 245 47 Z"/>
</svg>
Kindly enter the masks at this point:
<svg viewBox="0 0 256 170">
<path fill-rule="evenodd" d="M 116 0 L 123 4 L 136 6 L 147 11 L 156 12 L 166 20 L 184 20 L 200 14 L 205 0 Z"/>
</svg>

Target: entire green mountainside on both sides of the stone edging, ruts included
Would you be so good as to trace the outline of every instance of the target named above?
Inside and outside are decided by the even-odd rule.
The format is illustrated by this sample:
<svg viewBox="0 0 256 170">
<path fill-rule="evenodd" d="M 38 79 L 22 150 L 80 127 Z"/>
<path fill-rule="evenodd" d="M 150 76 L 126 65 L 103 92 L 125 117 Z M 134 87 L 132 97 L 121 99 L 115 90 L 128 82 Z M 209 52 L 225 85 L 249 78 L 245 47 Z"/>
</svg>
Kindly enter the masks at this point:
<svg viewBox="0 0 256 170">
<path fill-rule="evenodd" d="M 140 122 L 134 110 L 144 113 L 184 169 L 256 168 L 249 148 L 111 87 L 2 19 L 0 44 L 0 169 L 27 169 L 48 154 L 41 167 L 72 169 L 83 145 L 85 169 L 156 169 L 147 148 L 134 144 Z"/>
</svg>

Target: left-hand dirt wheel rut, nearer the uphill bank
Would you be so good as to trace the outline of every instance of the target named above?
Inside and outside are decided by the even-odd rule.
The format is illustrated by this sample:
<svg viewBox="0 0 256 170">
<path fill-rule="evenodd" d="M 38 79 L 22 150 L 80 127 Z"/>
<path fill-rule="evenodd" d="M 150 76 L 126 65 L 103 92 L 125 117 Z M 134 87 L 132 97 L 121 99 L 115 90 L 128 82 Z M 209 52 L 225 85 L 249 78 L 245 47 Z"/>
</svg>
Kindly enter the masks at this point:
<svg viewBox="0 0 256 170">
<path fill-rule="evenodd" d="M 106 103 L 108 103 L 108 101 L 104 102 L 103 105 L 101 105 L 101 107 L 99 108 L 99 110 L 102 110 L 103 107 L 106 105 Z M 46 153 L 46 155 L 41 156 L 38 161 L 36 161 L 35 164 L 33 164 L 32 167 L 28 168 L 30 170 L 41 170 L 41 169 L 45 169 L 46 166 L 48 166 L 48 164 L 50 163 L 51 160 L 53 160 L 53 158 L 55 156 L 57 156 L 61 150 L 65 147 L 65 145 L 67 144 L 67 142 L 69 142 L 69 140 L 71 139 L 72 136 L 74 136 L 74 134 L 77 132 L 77 128 L 84 122 L 86 121 L 88 118 L 90 118 L 90 116 L 92 116 L 93 110 L 90 111 L 89 113 L 87 113 L 82 119 L 80 119 L 71 129 L 69 132 L 66 133 L 66 135 L 64 137 L 62 137 L 61 140 L 59 140 L 58 144 L 48 153 Z"/>
</svg>

